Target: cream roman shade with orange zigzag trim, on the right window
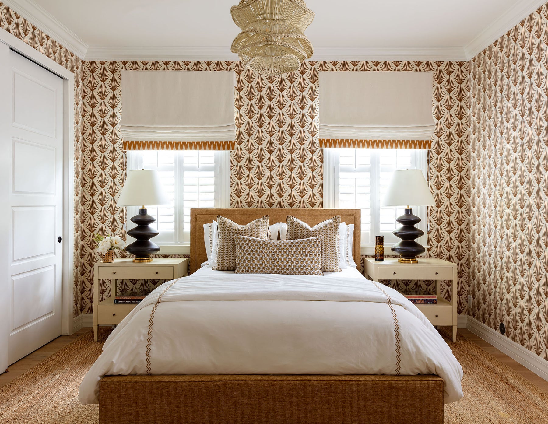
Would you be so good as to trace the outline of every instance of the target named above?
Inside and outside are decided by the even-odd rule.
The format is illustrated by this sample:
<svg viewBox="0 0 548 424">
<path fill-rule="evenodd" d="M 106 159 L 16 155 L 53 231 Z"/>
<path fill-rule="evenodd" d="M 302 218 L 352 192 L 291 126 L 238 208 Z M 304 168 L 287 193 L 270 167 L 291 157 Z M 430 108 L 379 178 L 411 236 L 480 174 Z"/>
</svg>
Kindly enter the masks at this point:
<svg viewBox="0 0 548 424">
<path fill-rule="evenodd" d="M 321 147 L 430 148 L 432 72 L 319 72 Z"/>
</svg>

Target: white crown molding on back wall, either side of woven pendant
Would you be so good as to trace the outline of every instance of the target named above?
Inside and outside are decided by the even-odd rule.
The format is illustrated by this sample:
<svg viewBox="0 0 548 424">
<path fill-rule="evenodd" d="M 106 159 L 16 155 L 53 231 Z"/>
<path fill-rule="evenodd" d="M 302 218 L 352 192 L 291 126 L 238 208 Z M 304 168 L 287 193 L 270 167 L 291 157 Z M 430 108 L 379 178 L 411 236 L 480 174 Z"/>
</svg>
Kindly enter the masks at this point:
<svg viewBox="0 0 548 424">
<path fill-rule="evenodd" d="M 229 47 L 104 47 L 90 45 L 85 60 L 238 60 Z M 468 60 L 461 47 L 318 47 L 311 60 Z"/>
</svg>

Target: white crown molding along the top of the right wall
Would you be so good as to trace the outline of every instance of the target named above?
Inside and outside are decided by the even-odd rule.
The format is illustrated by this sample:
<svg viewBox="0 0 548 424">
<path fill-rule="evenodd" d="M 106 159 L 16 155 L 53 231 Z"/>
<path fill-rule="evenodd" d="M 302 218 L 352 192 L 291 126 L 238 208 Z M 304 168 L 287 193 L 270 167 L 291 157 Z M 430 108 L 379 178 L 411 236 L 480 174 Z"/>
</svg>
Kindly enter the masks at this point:
<svg viewBox="0 0 548 424">
<path fill-rule="evenodd" d="M 498 19 L 464 46 L 467 59 L 475 58 L 476 55 L 503 36 L 506 31 L 511 30 L 544 3 L 546 3 L 546 0 L 520 0 L 515 2 L 510 9 L 507 9 Z"/>
</svg>

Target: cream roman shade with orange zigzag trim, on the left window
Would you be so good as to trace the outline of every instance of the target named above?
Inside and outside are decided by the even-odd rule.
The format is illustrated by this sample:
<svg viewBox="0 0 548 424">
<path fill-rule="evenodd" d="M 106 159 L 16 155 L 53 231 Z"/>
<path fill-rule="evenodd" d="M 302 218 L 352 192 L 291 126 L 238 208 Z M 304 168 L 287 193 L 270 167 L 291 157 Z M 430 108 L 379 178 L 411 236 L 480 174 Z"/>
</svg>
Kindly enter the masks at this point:
<svg viewBox="0 0 548 424">
<path fill-rule="evenodd" d="M 233 71 L 121 71 L 125 150 L 231 150 Z"/>
</svg>

